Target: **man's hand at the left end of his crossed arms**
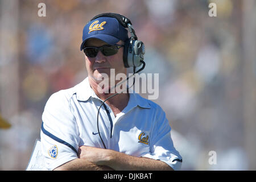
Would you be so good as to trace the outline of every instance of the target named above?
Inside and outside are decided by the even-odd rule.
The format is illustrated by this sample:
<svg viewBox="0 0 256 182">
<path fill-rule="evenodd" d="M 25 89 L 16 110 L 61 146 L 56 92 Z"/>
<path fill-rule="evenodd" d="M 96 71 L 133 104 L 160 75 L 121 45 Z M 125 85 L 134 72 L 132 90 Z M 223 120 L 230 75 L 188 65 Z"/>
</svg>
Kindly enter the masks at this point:
<svg viewBox="0 0 256 182">
<path fill-rule="evenodd" d="M 78 151 L 80 159 L 88 160 L 96 165 L 106 165 L 109 150 L 89 146 L 80 146 Z"/>
</svg>

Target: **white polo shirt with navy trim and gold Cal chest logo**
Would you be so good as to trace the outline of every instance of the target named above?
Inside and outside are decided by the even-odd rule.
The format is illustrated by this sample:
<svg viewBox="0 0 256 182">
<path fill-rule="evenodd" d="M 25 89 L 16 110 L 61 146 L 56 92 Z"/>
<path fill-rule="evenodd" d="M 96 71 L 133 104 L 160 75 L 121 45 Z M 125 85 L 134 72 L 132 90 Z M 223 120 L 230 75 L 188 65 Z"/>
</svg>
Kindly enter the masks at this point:
<svg viewBox="0 0 256 182">
<path fill-rule="evenodd" d="M 108 104 L 100 109 L 99 130 L 106 148 L 162 160 L 180 169 L 182 159 L 175 150 L 162 108 L 137 93 L 129 95 L 127 106 L 116 117 Z M 88 77 L 73 88 L 52 94 L 44 108 L 40 133 L 48 170 L 76 159 L 79 146 L 104 148 L 97 129 L 101 103 Z"/>
</svg>

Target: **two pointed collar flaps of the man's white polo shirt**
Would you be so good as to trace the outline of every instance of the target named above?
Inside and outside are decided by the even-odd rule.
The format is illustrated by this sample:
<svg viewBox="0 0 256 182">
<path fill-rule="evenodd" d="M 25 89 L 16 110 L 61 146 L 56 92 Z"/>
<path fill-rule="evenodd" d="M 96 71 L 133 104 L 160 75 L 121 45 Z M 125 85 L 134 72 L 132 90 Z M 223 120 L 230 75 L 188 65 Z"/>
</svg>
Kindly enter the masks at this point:
<svg viewBox="0 0 256 182">
<path fill-rule="evenodd" d="M 88 101 L 90 97 L 100 100 L 100 98 L 98 98 L 96 93 L 90 87 L 88 77 L 86 77 L 80 84 L 76 85 L 76 96 L 77 100 L 79 101 Z M 129 102 L 126 107 L 131 108 L 139 106 L 145 109 L 150 109 L 150 104 L 148 103 L 148 100 L 139 96 L 139 94 L 134 93 L 134 91 L 131 89 L 129 89 L 129 96 Z"/>
</svg>

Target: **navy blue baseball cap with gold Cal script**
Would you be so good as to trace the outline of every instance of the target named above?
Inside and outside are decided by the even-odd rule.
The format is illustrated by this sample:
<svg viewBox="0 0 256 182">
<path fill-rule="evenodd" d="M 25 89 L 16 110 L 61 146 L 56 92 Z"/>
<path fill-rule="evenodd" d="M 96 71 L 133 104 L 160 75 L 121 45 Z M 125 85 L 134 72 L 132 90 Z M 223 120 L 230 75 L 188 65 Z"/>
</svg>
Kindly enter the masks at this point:
<svg viewBox="0 0 256 182">
<path fill-rule="evenodd" d="M 85 25 L 82 31 L 81 51 L 84 48 L 86 40 L 90 38 L 100 39 L 110 45 L 114 45 L 119 40 L 125 42 L 128 39 L 128 31 L 115 18 L 99 17 Z"/>
</svg>

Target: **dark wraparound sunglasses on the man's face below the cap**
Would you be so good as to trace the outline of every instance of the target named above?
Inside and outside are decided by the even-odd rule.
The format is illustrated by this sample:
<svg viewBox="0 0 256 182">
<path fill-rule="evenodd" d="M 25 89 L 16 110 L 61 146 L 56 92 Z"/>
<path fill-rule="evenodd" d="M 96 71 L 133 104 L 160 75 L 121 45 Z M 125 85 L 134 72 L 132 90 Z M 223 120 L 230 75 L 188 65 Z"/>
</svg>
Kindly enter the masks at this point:
<svg viewBox="0 0 256 182">
<path fill-rule="evenodd" d="M 98 51 L 101 51 L 101 53 L 104 56 L 112 56 L 115 55 L 118 52 L 118 49 L 123 47 L 123 45 L 114 44 L 112 45 L 104 45 L 101 47 L 85 47 L 84 53 L 87 57 L 96 57 L 98 54 Z"/>
</svg>

